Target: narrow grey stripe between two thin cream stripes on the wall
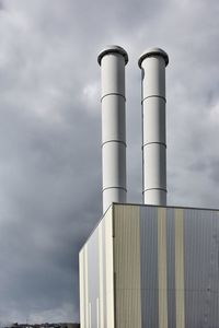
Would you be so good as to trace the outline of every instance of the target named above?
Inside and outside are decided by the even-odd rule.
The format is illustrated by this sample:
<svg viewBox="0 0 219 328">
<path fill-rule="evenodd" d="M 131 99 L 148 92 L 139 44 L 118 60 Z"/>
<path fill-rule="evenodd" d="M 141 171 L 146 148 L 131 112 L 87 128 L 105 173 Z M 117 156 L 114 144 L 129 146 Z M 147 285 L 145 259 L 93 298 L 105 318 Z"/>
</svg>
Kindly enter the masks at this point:
<svg viewBox="0 0 219 328">
<path fill-rule="evenodd" d="M 166 209 L 168 327 L 175 328 L 175 223 L 174 209 Z"/>
</svg>

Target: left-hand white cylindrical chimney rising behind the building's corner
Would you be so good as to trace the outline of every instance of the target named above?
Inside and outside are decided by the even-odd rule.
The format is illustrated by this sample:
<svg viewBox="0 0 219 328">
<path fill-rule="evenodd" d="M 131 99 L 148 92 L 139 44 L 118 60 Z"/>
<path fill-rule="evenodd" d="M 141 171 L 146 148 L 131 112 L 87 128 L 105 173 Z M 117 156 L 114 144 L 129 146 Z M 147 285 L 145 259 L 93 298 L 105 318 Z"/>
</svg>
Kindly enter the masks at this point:
<svg viewBox="0 0 219 328">
<path fill-rule="evenodd" d="M 126 202 L 126 96 L 127 52 L 108 46 L 99 55 L 102 74 L 102 180 L 103 212 L 112 202 Z"/>
</svg>

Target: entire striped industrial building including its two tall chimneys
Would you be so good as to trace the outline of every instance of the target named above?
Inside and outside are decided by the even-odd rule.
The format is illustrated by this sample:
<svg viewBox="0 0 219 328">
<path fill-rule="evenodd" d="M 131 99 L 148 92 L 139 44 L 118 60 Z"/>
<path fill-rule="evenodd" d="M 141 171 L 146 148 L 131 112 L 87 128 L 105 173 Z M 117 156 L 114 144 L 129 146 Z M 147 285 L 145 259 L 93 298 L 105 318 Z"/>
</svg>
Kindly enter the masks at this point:
<svg viewBox="0 0 219 328">
<path fill-rule="evenodd" d="M 219 210 L 166 206 L 165 68 L 140 56 L 143 204 L 126 203 L 125 66 L 102 70 L 103 215 L 80 251 L 82 328 L 219 328 Z"/>
</svg>

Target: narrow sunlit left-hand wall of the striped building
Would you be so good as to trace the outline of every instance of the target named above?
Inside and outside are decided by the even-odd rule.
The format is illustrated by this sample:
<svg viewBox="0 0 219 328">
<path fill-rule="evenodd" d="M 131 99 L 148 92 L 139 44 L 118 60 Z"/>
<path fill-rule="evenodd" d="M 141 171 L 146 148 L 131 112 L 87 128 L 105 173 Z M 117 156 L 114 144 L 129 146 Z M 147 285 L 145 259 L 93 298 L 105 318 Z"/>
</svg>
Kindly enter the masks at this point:
<svg viewBox="0 0 219 328">
<path fill-rule="evenodd" d="M 114 328 L 112 208 L 79 255 L 81 328 Z"/>
</svg>

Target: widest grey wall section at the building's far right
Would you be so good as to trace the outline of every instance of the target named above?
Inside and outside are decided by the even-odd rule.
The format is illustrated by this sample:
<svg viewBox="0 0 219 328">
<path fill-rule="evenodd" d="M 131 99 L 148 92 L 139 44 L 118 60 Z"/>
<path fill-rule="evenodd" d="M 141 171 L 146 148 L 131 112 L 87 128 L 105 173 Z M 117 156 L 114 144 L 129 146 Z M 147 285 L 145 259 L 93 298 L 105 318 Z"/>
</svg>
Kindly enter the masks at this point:
<svg viewBox="0 0 219 328">
<path fill-rule="evenodd" d="M 186 327 L 219 327 L 218 247 L 216 211 L 184 211 Z"/>
</svg>

